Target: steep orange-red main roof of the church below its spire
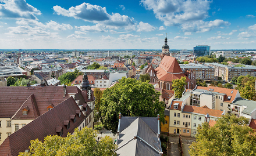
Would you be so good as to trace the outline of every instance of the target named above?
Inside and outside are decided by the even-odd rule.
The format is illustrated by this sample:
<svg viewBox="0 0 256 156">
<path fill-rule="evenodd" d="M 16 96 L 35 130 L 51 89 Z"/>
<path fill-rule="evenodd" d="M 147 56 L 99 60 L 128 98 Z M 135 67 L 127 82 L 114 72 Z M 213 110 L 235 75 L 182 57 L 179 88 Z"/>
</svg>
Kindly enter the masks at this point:
<svg viewBox="0 0 256 156">
<path fill-rule="evenodd" d="M 159 66 L 162 67 L 163 70 L 165 70 L 166 72 L 182 73 L 182 68 L 180 68 L 179 63 L 175 59 L 175 57 L 170 57 L 170 56 L 163 57 Z"/>
</svg>

